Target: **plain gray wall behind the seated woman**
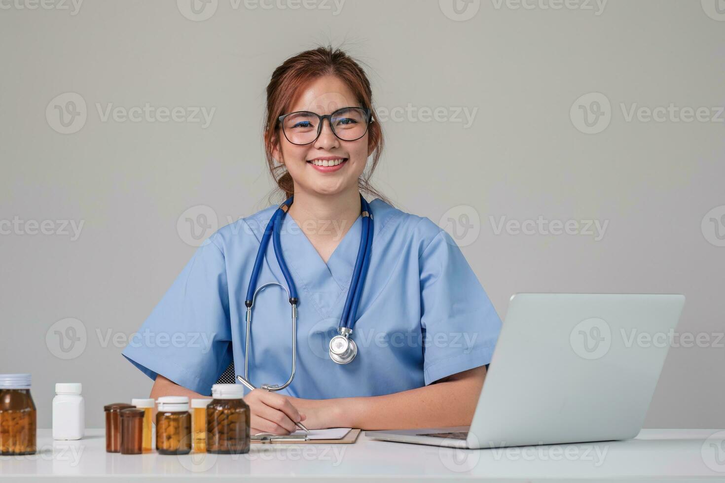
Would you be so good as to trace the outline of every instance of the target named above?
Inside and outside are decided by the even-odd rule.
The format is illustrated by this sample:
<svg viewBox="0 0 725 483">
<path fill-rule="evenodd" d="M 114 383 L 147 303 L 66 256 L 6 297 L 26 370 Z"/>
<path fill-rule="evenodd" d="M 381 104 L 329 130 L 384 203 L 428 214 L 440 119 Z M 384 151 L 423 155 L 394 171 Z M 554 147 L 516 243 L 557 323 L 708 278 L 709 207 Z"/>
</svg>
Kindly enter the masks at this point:
<svg viewBox="0 0 725 483">
<path fill-rule="evenodd" d="M 194 252 L 186 217 L 215 214 L 207 222 L 221 226 L 267 206 L 268 78 L 316 42 L 345 41 L 368 64 L 378 109 L 443 108 L 439 120 L 383 120 L 376 184 L 399 208 L 455 232 L 500 316 L 515 292 L 684 293 L 678 331 L 711 343 L 671 349 L 646 427 L 724 427 L 725 341 L 714 342 L 724 330 L 725 248 L 701 222 L 725 205 L 725 124 L 627 122 L 621 104 L 724 106 L 725 21 L 708 16 L 708 0 L 610 0 L 600 14 L 596 4 L 531 4 L 474 1 L 465 21 L 438 1 L 412 0 L 347 0 L 339 14 L 319 2 L 235 9 L 219 0 L 203 21 L 169 0 L 86 0 L 76 14 L 72 4 L 4 4 L 0 220 L 54 228 L 0 235 L 0 372 L 33 374 L 39 426 L 50 426 L 54 382 L 83 382 L 88 427 L 102 426 L 105 403 L 148 395 L 152 382 L 120 356 L 123 337 Z M 54 98 L 69 92 L 86 102 L 87 119 L 61 134 L 46 108 L 65 106 Z M 610 101 L 610 124 L 585 134 L 570 108 L 592 92 Z M 104 121 L 96 104 L 109 103 L 216 110 L 204 128 Z M 450 119 L 458 107 L 477 109 L 472 125 Z M 608 225 L 595 240 L 497 233 L 490 218 L 539 216 Z M 63 235 L 57 220 L 83 221 L 80 237 Z M 54 324 L 67 318 L 86 335 L 76 332 L 83 340 L 63 353 L 54 330 L 68 335 L 68 322 Z"/>
</svg>

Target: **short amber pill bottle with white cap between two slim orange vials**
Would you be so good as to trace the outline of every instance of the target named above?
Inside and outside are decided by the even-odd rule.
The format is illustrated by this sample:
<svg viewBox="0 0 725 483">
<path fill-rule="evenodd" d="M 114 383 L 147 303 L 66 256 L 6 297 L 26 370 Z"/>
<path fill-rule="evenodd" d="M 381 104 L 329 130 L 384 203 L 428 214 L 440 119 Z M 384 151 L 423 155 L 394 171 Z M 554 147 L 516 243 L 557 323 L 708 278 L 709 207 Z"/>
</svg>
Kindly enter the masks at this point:
<svg viewBox="0 0 725 483">
<path fill-rule="evenodd" d="M 186 455 L 191 451 L 191 413 L 186 396 L 157 400 L 156 449 L 162 455 Z"/>
</svg>

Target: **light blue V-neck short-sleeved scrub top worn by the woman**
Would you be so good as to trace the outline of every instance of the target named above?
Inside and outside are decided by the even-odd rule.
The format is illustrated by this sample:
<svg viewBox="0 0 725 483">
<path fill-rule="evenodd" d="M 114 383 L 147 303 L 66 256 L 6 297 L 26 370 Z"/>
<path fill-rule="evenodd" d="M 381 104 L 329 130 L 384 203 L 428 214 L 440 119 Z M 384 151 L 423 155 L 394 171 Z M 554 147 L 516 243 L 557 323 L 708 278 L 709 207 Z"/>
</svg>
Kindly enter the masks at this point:
<svg viewBox="0 0 725 483">
<path fill-rule="evenodd" d="M 357 357 L 335 364 L 337 334 L 360 245 L 358 217 L 327 264 L 294 219 L 284 218 L 281 245 L 297 286 L 297 372 L 282 394 L 327 399 L 391 394 L 489 364 L 501 320 L 447 232 L 376 198 L 372 258 L 352 339 Z M 204 241 L 123 356 L 152 379 L 202 395 L 234 361 L 244 375 L 249 276 L 262 233 L 277 206 L 239 219 Z M 320 230 L 324 229 L 320 227 Z M 335 232 L 335 227 L 327 228 Z M 269 244 L 257 287 L 286 285 Z M 254 301 L 249 379 L 281 385 L 291 369 L 291 306 L 281 287 Z"/>
</svg>

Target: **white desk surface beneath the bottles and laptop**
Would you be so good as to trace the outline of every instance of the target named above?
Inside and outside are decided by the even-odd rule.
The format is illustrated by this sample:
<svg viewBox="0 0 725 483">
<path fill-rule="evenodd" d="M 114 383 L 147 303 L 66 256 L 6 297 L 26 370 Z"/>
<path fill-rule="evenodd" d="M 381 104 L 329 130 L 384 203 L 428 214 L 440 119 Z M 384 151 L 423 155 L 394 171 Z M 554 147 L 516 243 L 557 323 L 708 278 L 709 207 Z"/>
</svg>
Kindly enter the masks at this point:
<svg viewBox="0 0 725 483">
<path fill-rule="evenodd" d="M 106 453 L 103 429 L 83 440 L 53 441 L 38 430 L 36 455 L 0 456 L 0 477 L 112 477 L 114 482 L 228 478 L 245 482 L 375 479 L 613 479 L 663 477 L 685 481 L 711 476 L 725 481 L 725 431 L 645 429 L 635 440 L 502 450 L 456 450 L 374 441 L 360 434 L 354 445 L 253 445 L 245 455 L 121 455 Z M 708 439 L 710 437 L 710 439 Z"/>
</svg>

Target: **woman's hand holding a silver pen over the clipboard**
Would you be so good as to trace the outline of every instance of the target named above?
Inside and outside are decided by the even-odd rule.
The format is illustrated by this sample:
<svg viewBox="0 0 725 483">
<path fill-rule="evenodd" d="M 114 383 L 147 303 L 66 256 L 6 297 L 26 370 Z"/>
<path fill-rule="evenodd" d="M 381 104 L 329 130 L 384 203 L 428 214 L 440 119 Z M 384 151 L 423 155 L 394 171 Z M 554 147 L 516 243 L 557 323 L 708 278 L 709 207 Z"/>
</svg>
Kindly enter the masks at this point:
<svg viewBox="0 0 725 483">
<path fill-rule="evenodd" d="M 244 396 L 244 402 L 251 411 L 252 434 L 289 434 L 299 429 L 295 422 L 305 421 L 306 416 L 292 406 L 289 398 L 276 392 L 255 389 Z"/>
</svg>

